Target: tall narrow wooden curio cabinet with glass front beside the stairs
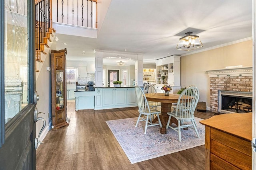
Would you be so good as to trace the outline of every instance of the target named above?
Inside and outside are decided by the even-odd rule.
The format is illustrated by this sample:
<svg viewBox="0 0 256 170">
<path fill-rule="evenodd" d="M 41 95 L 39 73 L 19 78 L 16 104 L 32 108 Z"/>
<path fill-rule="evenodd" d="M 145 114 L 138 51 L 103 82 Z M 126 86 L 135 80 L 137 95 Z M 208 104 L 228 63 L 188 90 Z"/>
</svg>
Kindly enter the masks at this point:
<svg viewBox="0 0 256 170">
<path fill-rule="evenodd" d="M 53 130 L 69 123 L 67 118 L 66 54 L 66 49 L 51 50 Z"/>
</svg>

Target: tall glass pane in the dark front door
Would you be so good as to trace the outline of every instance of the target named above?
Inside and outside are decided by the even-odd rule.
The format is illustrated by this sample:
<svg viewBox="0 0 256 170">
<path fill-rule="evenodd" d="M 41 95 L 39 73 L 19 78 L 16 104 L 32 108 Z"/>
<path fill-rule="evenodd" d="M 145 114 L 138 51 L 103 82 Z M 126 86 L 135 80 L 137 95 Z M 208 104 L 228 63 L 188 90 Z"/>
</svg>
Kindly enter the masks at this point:
<svg viewBox="0 0 256 170">
<path fill-rule="evenodd" d="M 5 3 L 5 124 L 28 104 L 28 19 L 26 12 L 27 6 L 23 1 L 6 1 Z"/>
</svg>

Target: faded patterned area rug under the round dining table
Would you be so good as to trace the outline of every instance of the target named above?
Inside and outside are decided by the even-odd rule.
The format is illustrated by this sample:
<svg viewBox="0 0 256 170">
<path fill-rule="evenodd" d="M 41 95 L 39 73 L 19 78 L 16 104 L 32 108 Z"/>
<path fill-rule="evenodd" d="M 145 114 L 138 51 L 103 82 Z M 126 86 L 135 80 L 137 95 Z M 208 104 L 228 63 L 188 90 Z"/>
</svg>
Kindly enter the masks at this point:
<svg viewBox="0 0 256 170">
<path fill-rule="evenodd" d="M 200 138 L 189 128 L 182 130 L 181 142 L 178 140 L 178 132 L 169 128 L 167 134 L 161 134 L 160 126 L 148 127 L 144 135 L 145 122 L 140 121 L 135 127 L 137 119 L 138 117 L 106 121 L 132 164 L 204 145 L 205 127 L 199 123 L 202 120 L 200 118 L 195 118 Z"/>
</svg>

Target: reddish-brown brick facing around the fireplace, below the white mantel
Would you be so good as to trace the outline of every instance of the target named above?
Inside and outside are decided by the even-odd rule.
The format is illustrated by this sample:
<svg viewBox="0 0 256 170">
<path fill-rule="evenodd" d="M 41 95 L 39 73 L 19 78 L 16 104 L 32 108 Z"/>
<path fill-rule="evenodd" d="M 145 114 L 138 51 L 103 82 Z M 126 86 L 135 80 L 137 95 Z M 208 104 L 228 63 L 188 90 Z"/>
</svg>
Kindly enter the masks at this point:
<svg viewBox="0 0 256 170">
<path fill-rule="evenodd" d="M 210 77 L 210 111 L 218 112 L 218 90 L 252 92 L 252 76 Z"/>
</svg>

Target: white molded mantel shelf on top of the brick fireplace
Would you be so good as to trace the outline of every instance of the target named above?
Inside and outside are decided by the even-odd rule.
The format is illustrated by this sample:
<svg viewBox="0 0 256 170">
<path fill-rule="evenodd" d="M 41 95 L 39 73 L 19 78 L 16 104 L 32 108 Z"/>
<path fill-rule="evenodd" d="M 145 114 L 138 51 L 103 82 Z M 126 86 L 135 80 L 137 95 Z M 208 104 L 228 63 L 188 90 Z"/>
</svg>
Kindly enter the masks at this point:
<svg viewBox="0 0 256 170">
<path fill-rule="evenodd" d="M 222 68 L 206 71 L 210 77 L 252 76 L 252 66 Z"/>
</svg>

